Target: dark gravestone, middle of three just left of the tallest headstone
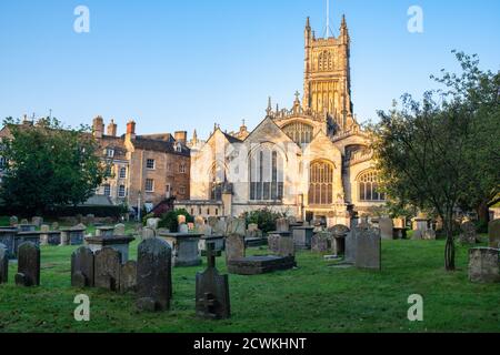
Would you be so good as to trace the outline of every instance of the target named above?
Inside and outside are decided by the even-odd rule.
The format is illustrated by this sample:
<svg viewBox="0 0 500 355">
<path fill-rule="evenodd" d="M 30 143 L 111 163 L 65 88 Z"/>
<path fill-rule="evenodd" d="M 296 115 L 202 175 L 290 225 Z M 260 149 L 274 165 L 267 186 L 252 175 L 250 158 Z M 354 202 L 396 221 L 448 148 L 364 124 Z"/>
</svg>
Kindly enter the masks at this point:
<svg viewBox="0 0 500 355">
<path fill-rule="evenodd" d="M 121 253 L 103 247 L 94 257 L 94 285 L 98 288 L 118 292 L 120 288 Z"/>
</svg>

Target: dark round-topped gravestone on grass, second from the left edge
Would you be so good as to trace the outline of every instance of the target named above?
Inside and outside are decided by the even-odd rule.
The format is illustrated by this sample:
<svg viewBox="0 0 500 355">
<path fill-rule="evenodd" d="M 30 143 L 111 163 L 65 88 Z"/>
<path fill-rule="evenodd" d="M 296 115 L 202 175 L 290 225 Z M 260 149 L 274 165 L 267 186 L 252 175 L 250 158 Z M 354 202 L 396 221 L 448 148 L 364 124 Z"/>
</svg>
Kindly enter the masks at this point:
<svg viewBox="0 0 500 355">
<path fill-rule="evenodd" d="M 16 284 L 26 287 L 40 285 L 40 248 L 31 242 L 19 246 Z"/>
</svg>

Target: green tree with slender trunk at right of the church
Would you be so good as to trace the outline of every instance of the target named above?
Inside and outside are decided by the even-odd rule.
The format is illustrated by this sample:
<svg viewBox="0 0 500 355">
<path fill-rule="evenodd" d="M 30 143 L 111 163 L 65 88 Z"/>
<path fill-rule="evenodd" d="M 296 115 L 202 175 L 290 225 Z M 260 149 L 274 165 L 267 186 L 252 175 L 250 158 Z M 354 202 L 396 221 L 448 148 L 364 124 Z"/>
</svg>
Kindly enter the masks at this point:
<svg viewBox="0 0 500 355">
<path fill-rule="evenodd" d="M 442 219 L 448 271 L 454 270 L 456 209 L 491 201 L 500 181 L 499 75 L 481 72 L 476 57 L 457 58 L 461 75 L 443 70 L 434 78 L 447 91 L 427 92 L 422 102 L 406 94 L 401 108 L 379 112 L 372 146 L 388 195 Z"/>
</svg>

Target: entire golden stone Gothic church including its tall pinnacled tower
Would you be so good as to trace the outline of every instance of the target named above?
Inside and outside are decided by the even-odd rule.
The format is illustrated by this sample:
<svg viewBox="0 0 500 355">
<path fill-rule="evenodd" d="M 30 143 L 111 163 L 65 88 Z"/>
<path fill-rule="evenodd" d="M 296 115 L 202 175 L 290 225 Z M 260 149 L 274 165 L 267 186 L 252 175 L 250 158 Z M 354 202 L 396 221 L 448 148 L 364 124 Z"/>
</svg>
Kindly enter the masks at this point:
<svg viewBox="0 0 500 355">
<path fill-rule="evenodd" d="M 317 38 L 307 19 L 303 95 L 291 109 L 269 99 L 263 121 L 228 133 L 216 125 L 191 148 L 191 199 L 177 207 L 192 215 L 239 216 L 270 209 L 301 221 L 349 225 L 384 204 L 369 136 L 353 114 L 350 37 Z"/>
</svg>

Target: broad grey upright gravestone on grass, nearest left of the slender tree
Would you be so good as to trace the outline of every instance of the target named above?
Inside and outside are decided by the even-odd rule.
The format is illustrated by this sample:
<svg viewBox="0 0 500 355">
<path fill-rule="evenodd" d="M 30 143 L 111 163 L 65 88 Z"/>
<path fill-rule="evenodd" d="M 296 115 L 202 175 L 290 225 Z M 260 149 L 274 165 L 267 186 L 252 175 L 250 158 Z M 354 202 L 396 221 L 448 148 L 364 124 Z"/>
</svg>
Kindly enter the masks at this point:
<svg viewBox="0 0 500 355">
<path fill-rule="evenodd" d="M 381 270 L 380 230 L 358 226 L 353 232 L 356 234 L 356 267 Z"/>
</svg>

